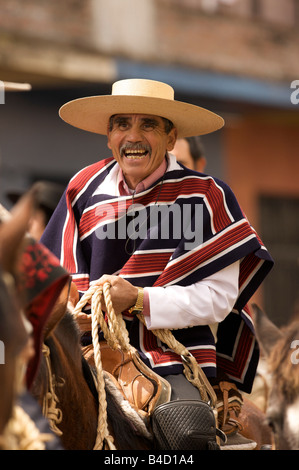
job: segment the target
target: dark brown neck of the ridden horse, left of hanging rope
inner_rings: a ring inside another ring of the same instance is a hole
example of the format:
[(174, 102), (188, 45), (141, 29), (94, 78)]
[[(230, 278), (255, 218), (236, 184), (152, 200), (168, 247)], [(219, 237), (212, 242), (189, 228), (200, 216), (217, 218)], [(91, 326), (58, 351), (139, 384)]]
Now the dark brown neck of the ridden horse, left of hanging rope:
[(70, 314), (66, 313), (44, 339), (30, 391), (64, 449), (93, 449), (98, 414), (96, 389), (91, 372), (83, 363), (78, 331)]

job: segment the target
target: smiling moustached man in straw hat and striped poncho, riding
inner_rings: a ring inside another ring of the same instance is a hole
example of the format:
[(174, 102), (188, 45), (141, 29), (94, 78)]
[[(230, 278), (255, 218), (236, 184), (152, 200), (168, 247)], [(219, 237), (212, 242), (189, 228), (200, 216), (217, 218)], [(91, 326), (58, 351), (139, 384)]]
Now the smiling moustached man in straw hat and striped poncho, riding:
[[(178, 137), (216, 131), (223, 119), (176, 101), (165, 83), (141, 79), (114, 83), (108, 96), (66, 103), (60, 116), (107, 135), (112, 158), (71, 179), (42, 242), (80, 295), (110, 282), (131, 344), (169, 381), (171, 400), (200, 395), (185, 379), (181, 357), (154, 329), (173, 330), (211, 382), (222, 374), (250, 392), (259, 352), (247, 302), (272, 258), (230, 188), (171, 154)], [(78, 321), (87, 344), (90, 316)], [(232, 448), (252, 443), (235, 440)]]

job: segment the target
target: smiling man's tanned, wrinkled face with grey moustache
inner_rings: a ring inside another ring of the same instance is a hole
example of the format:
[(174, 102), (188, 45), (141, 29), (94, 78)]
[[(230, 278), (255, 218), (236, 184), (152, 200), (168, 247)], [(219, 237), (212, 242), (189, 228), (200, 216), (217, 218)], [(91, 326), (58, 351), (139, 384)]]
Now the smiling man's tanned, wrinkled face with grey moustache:
[(143, 114), (118, 114), (108, 130), (108, 147), (119, 163), (128, 186), (137, 184), (155, 171), (166, 151), (176, 141), (176, 129), (168, 134), (161, 117)]

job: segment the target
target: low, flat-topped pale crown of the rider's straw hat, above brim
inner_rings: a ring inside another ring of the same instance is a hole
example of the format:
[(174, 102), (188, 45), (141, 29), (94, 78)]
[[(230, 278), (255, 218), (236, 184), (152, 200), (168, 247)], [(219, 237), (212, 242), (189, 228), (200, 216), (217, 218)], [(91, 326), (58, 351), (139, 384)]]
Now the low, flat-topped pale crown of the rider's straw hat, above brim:
[(167, 83), (134, 78), (115, 82), (112, 85), (112, 95), (147, 96), (174, 100), (174, 89)]

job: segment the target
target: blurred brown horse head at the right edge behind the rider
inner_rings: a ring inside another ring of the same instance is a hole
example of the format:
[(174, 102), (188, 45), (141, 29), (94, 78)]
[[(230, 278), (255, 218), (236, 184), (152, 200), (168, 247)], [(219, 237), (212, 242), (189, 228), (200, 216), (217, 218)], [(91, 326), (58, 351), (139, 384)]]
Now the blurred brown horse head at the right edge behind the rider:
[(253, 305), (270, 377), (267, 420), (279, 450), (299, 449), (299, 322), (279, 329)]

